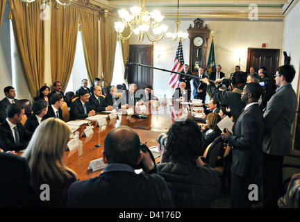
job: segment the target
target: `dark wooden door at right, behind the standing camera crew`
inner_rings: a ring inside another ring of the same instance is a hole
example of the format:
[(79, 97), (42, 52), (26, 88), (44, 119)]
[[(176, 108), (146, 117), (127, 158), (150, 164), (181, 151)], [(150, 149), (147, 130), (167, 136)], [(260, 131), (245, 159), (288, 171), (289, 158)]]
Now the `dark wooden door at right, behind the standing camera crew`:
[(274, 78), (279, 62), (279, 49), (253, 49), (248, 48), (247, 71), (250, 67), (267, 68), (267, 78)]

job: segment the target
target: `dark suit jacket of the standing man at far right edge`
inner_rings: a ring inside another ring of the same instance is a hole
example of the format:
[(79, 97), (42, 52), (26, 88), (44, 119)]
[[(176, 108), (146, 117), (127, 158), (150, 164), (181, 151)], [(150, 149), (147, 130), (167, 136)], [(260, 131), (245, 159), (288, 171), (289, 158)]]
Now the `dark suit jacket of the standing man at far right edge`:
[(263, 152), (288, 155), (292, 148), (292, 123), (297, 111), (297, 95), (291, 84), (283, 86), (267, 102)]

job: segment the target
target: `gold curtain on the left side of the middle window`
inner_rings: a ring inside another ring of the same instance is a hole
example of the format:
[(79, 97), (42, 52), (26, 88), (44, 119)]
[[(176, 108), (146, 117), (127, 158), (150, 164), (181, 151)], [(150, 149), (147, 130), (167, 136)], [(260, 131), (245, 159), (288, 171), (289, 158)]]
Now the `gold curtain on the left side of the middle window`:
[(77, 32), (78, 9), (73, 6), (56, 4), (51, 8), (51, 77), (52, 82), (60, 81), (63, 91), (67, 87), (74, 64)]

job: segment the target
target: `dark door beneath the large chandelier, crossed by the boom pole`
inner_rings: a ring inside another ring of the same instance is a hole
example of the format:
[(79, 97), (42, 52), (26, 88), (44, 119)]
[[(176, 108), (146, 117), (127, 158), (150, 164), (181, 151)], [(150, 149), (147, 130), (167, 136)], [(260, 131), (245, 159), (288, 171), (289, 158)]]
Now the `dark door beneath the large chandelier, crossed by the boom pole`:
[[(153, 45), (129, 45), (129, 62), (137, 62), (143, 65), (153, 66)], [(128, 83), (139, 86), (152, 85), (153, 69), (131, 65), (128, 67)]]

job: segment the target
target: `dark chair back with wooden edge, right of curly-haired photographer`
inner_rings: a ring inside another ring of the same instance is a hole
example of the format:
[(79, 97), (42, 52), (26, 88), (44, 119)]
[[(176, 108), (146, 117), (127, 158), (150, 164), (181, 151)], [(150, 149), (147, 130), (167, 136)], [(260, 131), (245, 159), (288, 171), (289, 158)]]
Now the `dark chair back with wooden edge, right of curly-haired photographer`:
[(206, 157), (210, 167), (215, 167), (221, 148), (223, 148), (223, 139), (222, 137), (217, 137), (211, 144), (208, 145), (206, 151), (204, 151), (203, 157)]

